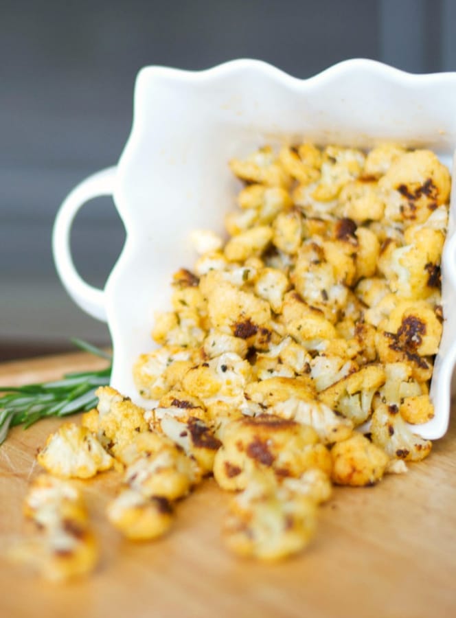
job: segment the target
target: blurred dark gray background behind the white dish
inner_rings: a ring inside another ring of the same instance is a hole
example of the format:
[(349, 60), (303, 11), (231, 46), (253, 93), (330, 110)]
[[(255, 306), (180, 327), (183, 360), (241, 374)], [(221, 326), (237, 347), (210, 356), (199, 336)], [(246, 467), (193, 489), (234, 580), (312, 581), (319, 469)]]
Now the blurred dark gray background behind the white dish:
[[(67, 297), (52, 224), (69, 190), (117, 162), (144, 65), (233, 58), (305, 78), (352, 57), (456, 70), (453, 0), (0, 0), (0, 360), (109, 343)], [(102, 286), (124, 240), (107, 198), (73, 228), (80, 273)]]

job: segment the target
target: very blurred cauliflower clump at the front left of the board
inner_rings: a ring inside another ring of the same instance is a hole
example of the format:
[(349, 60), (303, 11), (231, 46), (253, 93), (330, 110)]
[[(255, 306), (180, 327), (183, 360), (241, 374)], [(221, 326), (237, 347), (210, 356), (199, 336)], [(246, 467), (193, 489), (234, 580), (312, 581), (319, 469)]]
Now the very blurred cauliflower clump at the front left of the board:
[(87, 519), (81, 492), (47, 474), (32, 484), (24, 505), (41, 535), (15, 545), (10, 558), (33, 567), (45, 579), (65, 582), (87, 575), (98, 563), (98, 545)]

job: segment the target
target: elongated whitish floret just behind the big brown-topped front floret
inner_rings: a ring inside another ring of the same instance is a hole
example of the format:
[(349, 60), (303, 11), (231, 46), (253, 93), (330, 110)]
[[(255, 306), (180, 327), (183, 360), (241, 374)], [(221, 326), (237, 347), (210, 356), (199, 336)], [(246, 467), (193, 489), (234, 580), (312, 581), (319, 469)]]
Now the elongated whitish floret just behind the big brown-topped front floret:
[(275, 402), (269, 411), (281, 418), (312, 427), (323, 444), (341, 442), (347, 439), (353, 429), (350, 419), (338, 416), (328, 406), (313, 398), (290, 396), (284, 401)]

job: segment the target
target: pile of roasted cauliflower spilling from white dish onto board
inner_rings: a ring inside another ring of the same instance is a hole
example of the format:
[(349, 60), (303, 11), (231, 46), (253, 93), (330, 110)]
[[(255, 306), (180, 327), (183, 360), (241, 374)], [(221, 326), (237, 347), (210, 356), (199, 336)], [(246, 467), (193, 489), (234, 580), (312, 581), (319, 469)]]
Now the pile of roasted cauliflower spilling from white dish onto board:
[(433, 417), (451, 179), (396, 144), (265, 147), (230, 166), (229, 240), (192, 234), (198, 260), (133, 368), (150, 409), (102, 387), (38, 462), (65, 479), (121, 470), (107, 517), (135, 540), (166, 533), (213, 474), (233, 492), (227, 546), (271, 560), (308, 544), (332, 484), (429, 455), (413, 425)]

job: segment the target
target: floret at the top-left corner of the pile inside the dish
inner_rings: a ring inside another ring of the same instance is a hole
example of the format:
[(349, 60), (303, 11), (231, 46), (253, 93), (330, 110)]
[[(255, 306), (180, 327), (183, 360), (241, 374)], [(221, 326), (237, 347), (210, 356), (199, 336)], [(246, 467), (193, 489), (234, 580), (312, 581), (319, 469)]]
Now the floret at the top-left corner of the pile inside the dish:
[(245, 159), (231, 159), (231, 172), (249, 183), (287, 187), (290, 176), (278, 161), (271, 146), (264, 146)]

